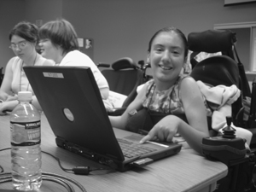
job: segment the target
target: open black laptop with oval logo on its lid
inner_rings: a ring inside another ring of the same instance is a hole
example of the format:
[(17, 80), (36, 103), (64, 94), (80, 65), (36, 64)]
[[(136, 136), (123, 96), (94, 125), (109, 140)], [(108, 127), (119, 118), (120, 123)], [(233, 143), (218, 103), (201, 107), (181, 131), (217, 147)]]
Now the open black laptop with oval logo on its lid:
[[(143, 136), (110, 124), (90, 67), (24, 67), (55, 142), (76, 154), (125, 172), (177, 154), (178, 143), (139, 144)], [(125, 145), (135, 149), (125, 151)], [(146, 153), (146, 154), (145, 154)]]

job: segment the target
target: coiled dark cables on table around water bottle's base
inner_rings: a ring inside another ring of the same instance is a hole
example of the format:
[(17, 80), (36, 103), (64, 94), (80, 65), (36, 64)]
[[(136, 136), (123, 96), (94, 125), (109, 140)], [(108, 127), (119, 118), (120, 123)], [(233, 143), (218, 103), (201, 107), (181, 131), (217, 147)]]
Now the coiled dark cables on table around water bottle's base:
[[(51, 172), (42, 172), (42, 178), (46, 181), (52, 181), (55, 183), (61, 184), (64, 188), (67, 189), (68, 192), (74, 192), (75, 189), (73, 188), (73, 185), (68, 183), (71, 182), (79, 187), (82, 192), (86, 192), (86, 189), (84, 189), (84, 186), (78, 183), (77, 181), (73, 180), (73, 178), (61, 176), (55, 173)], [(12, 181), (12, 174), (11, 172), (3, 172), (0, 173), (0, 183), (7, 183)]]

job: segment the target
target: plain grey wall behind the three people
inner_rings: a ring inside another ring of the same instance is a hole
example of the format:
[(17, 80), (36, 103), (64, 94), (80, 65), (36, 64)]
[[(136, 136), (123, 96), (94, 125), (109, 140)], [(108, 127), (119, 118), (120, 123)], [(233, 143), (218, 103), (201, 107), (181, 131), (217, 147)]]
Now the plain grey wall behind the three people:
[(94, 39), (94, 61), (145, 60), (148, 41), (164, 26), (185, 35), (214, 24), (256, 20), (256, 3), (224, 7), (224, 0), (0, 0), (0, 67), (13, 56), (9, 30), (20, 20), (69, 20), (79, 38)]

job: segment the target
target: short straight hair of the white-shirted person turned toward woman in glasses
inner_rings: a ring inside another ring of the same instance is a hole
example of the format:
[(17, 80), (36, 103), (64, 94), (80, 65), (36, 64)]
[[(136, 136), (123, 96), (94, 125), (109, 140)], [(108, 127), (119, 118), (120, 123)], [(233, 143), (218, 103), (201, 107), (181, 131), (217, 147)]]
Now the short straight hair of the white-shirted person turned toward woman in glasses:
[(40, 39), (49, 39), (55, 47), (63, 49), (63, 55), (79, 49), (78, 36), (70, 22), (64, 19), (52, 20), (39, 29)]

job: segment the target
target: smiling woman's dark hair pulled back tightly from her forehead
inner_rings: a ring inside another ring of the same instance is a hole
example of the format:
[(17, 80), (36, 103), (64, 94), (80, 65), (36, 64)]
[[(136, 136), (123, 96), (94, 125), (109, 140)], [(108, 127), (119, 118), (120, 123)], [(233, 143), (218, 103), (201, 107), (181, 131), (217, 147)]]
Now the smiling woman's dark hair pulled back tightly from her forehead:
[(160, 29), (158, 32), (155, 32), (153, 37), (150, 39), (149, 41), (149, 44), (148, 44), (148, 52), (151, 51), (151, 46), (152, 46), (152, 43), (154, 41), (154, 38), (160, 34), (160, 32), (176, 32), (177, 35), (180, 36), (180, 38), (182, 38), (183, 40), (183, 44), (184, 44), (184, 48), (185, 48), (185, 53), (184, 53), (184, 57), (186, 58), (188, 56), (188, 53), (189, 53), (189, 48), (188, 48), (188, 41), (187, 41), (187, 38), (186, 36), (183, 34), (182, 31), (180, 31), (179, 29), (173, 27), (173, 26), (167, 26), (167, 27), (164, 27), (162, 29)]

